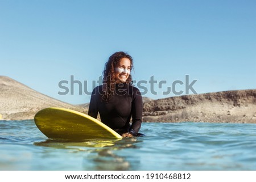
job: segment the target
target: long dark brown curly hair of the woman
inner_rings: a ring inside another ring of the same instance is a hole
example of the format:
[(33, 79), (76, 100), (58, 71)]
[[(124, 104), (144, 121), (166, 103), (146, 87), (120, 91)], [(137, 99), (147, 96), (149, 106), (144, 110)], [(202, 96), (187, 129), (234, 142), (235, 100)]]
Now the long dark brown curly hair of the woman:
[[(131, 69), (133, 69), (133, 58), (125, 53), (125, 52), (116, 52), (112, 54), (112, 56), (109, 57), (108, 62), (105, 64), (105, 69), (103, 71), (103, 86), (102, 86), (102, 91), (103, 95), (101, 97), (102, 100), (109, 102), (109, 100), (112, 98), (114, 95), (114, 90), (115, 90), (115, 66), (119, 63), (119, 61), (122, 58), (128, 58), (131, 62)], [(132, 84), (132, 78), (131, 74), (126, 80), (127, 84)]]

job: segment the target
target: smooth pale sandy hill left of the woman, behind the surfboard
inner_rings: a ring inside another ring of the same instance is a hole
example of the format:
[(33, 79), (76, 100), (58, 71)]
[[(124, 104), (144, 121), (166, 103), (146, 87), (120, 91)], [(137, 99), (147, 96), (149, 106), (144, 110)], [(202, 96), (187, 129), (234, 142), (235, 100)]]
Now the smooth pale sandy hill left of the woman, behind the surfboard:
[(14, 79), (0, 76), (0, 117), (3, 120), (32, 119), (36, 112), (47, 107), (63, 107), (85, 112), (84, 108), (53, 99)]

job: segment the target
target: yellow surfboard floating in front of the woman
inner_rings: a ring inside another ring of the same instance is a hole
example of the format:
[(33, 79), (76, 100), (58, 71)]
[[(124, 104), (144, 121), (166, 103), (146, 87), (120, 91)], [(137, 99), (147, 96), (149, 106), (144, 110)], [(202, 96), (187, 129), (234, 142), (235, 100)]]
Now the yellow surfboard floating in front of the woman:
[(36, 113), (35, 124), (51, 139), (85, 140), (122, 138), (96, 118), (65, 108), (46, 108)]

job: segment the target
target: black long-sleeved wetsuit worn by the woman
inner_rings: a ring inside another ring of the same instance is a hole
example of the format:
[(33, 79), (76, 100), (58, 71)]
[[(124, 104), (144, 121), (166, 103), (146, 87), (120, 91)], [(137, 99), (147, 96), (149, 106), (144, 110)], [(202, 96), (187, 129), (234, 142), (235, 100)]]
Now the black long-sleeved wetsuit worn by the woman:
[(108, 103), (101, 96), (102, 86), (94, 88), (88, 115), (97, 118), (99, 112), (101, 121), (117, 133), (137, 134), (142, 122), (142, 96), (138, 88), (119, 83), (115, 84), (115, 93)]

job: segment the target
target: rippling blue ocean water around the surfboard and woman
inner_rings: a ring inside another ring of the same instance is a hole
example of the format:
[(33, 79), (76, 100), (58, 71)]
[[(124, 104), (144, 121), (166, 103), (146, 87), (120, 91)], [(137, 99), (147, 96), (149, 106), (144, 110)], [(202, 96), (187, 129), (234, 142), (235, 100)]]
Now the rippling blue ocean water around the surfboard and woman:
[(256, 170), (256, 124), (143, 123), (145, 137), (49, 140), (0, 121), (0, 170)]

